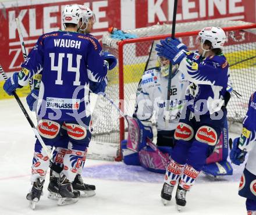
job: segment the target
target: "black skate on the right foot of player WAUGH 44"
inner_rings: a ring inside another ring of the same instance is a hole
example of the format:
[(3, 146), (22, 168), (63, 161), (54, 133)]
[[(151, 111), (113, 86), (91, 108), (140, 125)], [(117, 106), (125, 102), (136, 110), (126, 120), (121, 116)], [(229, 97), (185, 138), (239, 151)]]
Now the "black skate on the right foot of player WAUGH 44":
[(58, 205), (69, 205), (76, 203), (79, 199), (80, 192), (73, 190), (71, 182), (66, 179), (66, 176), (63, 175), (59, 179), (59, 199)]

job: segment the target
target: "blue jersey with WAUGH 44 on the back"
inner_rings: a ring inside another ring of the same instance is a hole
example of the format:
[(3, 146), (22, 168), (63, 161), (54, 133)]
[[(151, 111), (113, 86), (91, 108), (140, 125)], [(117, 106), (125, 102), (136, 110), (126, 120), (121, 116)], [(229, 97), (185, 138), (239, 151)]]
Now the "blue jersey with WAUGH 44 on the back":
[[(101, 82), (108, 72), (102, 48), (92, 35), (55, 31), (42, 35), (22, 64), (19, 84), (41, 73), (40, 116), (73, 120), (87, 110), (89, 81)], [(83, 114), (88, 116), (89, 112)]]

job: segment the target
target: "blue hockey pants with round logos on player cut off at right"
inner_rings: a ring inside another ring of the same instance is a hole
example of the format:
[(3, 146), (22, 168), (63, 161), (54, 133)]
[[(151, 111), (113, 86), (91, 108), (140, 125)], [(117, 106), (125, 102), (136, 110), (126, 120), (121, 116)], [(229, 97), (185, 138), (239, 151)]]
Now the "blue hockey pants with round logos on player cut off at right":
[(256, 200), (256, 175), (244, 168), (239, 185), (239, 195)]

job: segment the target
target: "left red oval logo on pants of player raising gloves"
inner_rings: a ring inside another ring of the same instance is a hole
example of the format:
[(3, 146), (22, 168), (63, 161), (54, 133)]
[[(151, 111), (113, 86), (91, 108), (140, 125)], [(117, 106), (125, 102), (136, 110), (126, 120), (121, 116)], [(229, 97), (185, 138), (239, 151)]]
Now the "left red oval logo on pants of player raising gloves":
[(180, 122), (177, 125), (174, 137), (175, 139), (183, 139), (184, 141), (190, 141), (194, 137), (194, 129), (189, 124)]

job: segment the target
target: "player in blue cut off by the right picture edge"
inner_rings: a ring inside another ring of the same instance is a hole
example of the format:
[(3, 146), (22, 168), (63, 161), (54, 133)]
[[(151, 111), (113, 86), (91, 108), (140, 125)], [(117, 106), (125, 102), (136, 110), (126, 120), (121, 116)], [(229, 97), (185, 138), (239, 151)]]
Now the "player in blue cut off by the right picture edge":
[(256, 215), (256, 92), (251, 95), (243, 120), (241, 136), (233, 140), (230, 160), (240, 165), (248, 153), (246, 167), (239, 184), (239, 195), (246, 198), (248, 215)]

